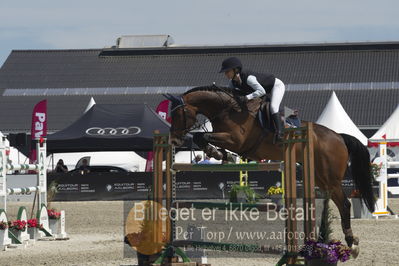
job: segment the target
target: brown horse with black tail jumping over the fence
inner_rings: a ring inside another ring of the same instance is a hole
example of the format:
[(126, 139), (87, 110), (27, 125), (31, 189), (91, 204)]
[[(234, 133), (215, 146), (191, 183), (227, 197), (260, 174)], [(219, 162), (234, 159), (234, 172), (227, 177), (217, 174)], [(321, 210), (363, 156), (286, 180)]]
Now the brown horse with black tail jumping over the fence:
[[(175, 97), (165, 95), (172, 102), (172, 125), (170, 141), (176, 146), (183, 144), (184, 137), (196, 123), (196, 116), (202, 114), (212, 123), (213, 132), (202, 133), (194, 141), (209, 156), (222, 159), (214, 146), (236, 152), (251, 160), (283, 160), (282, 145), (273, 144), (274, 133), (267, 133), (256, 117), (245, 106), (237, 103), (233, 91), (216, 86), (196, 87)], [(318, 124), (313, 124), (315, 158), (315, 183), (328, 192), (341, 216), (342, 230), (348, 246), (358, 244), (350, 223), (351, 204), (344, 194), (342, 179), (347, 168), (351, 171), (355, 186), (370, 212), (374, 211), (375, 197), (372, 190), (373, 176), (370, 168), (370, 154), (356, 138), (337, 134)], [(211, 146), (212, 144), (214, 146)], [(297, 145), (297, 154), (301, 154)], [(298, 157), (298, 161), (302, 159)], [(350, 167), (348, 163), (350, 161)], [(355, 247), (353, 247), (355, 248)]]

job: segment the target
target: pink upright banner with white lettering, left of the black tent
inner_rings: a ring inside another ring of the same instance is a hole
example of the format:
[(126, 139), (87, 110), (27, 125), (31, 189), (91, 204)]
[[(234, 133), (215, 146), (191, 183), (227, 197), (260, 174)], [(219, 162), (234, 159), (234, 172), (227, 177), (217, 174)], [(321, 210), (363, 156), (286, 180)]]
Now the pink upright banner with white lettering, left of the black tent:
[[(45, 138), (47, 136), (47, 100), (35, 105), (32, 112), (32, 140)], [(36, 162), (36, 146), (31, 147), (29, 163)]]

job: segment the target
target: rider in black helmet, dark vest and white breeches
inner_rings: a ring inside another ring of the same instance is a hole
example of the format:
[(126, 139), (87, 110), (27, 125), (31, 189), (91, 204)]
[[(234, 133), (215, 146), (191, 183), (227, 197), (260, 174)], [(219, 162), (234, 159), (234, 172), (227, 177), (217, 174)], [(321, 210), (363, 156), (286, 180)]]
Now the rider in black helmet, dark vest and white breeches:
[(279, 107), (283, 99), (284, 83), (270, 73), (256, 73), (242, 68), (240, 59), (229, 57), (222, 62), (219, 73), (224, 72), (230, 80), (229, 87), (239, 90), (246, 96), (239, 96), (242, 103), (254, 98), (265, 98), (266, 93), (271, 93), (270, 109), (273, 123), (276, 126), (276, 140), (283, 138), (283, 121), (279, 115)]

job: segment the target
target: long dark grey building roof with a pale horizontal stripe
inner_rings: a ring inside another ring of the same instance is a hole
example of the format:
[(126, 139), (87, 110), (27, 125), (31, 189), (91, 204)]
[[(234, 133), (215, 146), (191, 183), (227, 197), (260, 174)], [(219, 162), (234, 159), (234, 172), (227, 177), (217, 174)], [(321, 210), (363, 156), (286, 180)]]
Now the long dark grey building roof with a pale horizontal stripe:
[(28, 130), (32, 108), (43, 98), (49, 129), (60, 130), (92, 95), (97, 103), (155, 107), (160, 92), (224, 85), (217, 70), (228, 56), (283, 80), (283, 104), (307, 120), (318, 118), (332, 90), (358, 126), (378, 127), (398, 104), (399, 42), (17, 50), (0, 69), (0, 112), (13, 116), (0, 116), (0, 130)]

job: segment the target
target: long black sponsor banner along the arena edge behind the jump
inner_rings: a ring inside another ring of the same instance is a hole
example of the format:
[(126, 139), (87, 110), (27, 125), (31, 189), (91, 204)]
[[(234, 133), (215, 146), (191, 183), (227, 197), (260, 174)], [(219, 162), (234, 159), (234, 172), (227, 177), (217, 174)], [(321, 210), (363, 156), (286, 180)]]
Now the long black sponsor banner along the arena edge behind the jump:
[[(151, 197), (150, 172), (49, 174), (48, 179), (48, 184), (54, 180), (58, 184), (55, 201), (146, 200)], [(239, 183), (239, 173), (179, 172), (176, 181), (177, 199), (228, 199), (231, 187)], [(278, 182), (281, 183), (279, 172), (249, 174), (249, 185), (262, 197)], [(345, 181), (345, 192), (349, 195), (352, 189), (353, 184)], [(298, 197), (301, 193), (302, 183), (298, 179)], [(316, 195), (322, 197), (320, 193)]]

